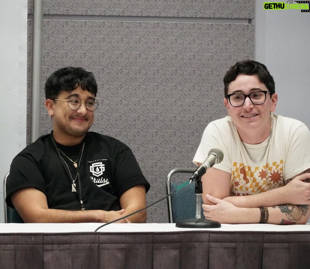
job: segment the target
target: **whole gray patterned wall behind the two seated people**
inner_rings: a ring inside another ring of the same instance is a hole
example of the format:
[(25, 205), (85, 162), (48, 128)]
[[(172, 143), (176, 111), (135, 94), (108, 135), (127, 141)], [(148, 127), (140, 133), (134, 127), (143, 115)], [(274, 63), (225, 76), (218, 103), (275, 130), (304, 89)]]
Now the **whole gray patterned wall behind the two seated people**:
[[(242, 2), (242, 3), (241, 3)], [(28, 3), (30, 118), (32, 1)], [(223, 76), (254, 58), (254, 1), (44, 1), (42, 89), (64, 66), (95, 74), (100, 108), (91, 128), (127, 144), (151, 184), (148, 204), (165, 195), (165, 178), (191, 167), (205, 126), (226, 115)], [(42, 134), (51, 131), (43, 106)], [(30, 122), (27, 123), (29, 142)], [(167, 222), (166, 201), (148, 222)]]

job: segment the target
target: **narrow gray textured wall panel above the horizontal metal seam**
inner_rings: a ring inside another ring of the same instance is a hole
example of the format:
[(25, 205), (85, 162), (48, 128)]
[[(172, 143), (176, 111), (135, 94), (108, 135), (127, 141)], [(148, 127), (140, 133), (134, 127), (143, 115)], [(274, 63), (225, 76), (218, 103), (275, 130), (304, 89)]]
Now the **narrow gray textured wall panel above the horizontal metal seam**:
[[(44, 14), (254, 18), (254, 0), (46, 0)], [(33, 1), (28, 0), (33, 12)]]

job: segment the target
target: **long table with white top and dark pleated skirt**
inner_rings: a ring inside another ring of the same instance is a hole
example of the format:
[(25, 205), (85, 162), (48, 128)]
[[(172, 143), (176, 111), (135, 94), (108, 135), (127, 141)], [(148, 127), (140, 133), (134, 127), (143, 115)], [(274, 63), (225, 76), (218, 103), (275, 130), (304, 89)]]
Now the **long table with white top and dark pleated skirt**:
[(310, 268), (310, 225), (0, 224), (0, 268)]

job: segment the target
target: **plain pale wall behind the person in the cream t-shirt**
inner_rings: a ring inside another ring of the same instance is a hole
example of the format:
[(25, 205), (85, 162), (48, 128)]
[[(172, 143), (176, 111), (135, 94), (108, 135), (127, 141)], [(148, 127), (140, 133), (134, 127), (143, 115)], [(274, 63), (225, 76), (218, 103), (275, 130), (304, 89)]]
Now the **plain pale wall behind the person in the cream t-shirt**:
[(256, 1), (255, 60), (264, 63), (275, 80), (276, 114), (310, 128), (310, 12), (264, 10), (263, 1)]

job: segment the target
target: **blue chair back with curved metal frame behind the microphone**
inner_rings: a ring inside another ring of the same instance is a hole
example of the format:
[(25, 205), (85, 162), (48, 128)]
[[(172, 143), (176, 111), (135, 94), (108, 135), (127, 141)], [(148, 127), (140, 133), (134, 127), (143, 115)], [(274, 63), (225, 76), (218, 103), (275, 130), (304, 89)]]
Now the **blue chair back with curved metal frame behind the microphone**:
[[(172, 193), (180, 185), (184, 184), (189, 177), (196, 171), (194, 168), (179, 167), (171, 170), (166, 177), (166, 194)], [(172, 182), (171, 178), (177, 173), (187, 173), (188, 177), (182, 175), (175, 176)], [(177, 178), (177, 180), (175, 180)], [(195, 183), (187, 184), (181, 189), (177, 190), (167, 198), (168, 218), (170, 223), (176, 223), (181, 220), (192, 219), (196, 217), (197, 198), (195, 194)], [(201, 203), (202, 204), (202, 203)], [(201, 216), (203, 217), (203, 210), (201, 207)]]

